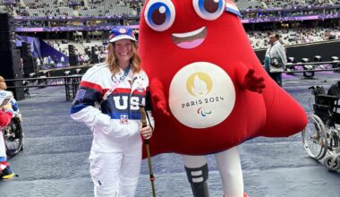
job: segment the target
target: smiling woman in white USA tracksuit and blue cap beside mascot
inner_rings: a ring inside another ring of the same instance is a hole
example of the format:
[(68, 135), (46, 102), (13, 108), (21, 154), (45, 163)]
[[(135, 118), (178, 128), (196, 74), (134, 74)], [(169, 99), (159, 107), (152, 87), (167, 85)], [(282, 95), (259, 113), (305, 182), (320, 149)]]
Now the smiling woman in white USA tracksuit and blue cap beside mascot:
[[(139, 106), (145, 105), (149, 79), (140, 69), (132, 30), (111, 31), (106, 63), (96, 64), (81, 79), (71, 116), (89, 126), (94, 137), (89, 172), (95, 196), (134, 196), (140, 175), (142, 139)], [(147, 110), (148, 110), (147, 106)], [(153, 124), (153, 118), (148, 114)]]

